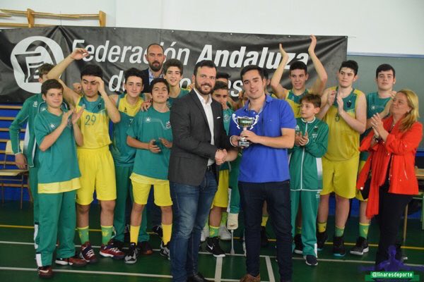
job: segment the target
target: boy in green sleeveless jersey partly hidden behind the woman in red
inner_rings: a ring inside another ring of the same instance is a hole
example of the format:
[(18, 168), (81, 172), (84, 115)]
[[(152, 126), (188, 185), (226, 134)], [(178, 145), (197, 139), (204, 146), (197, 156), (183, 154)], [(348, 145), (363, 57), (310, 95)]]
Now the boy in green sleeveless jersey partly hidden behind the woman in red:
[[(382, 118), (389, 115), (389, 109), (396, 91), (393, 91), (394, 84), (396, 83), (396, 73), (394, 68), (387, 63), (377, 67), (375, 71), (375, 82), (377, 82), (377, 92), (367, 94), (367, 125), (365, 133), (360, 135), (360, 140), (367, 136), (370, 132), (372, 125), (372, 116), (379, 114)], [(369, 153), (360, 152), (359, 155), (359, 170), (363, 168), (365, 161), (367, 161)], [(360, 201), (359, 209), (359, 236), (356, 240), (355, 246), (351, 250), (352, 255), (363, 255), (370, 249), (368, 247), (368, 230), (370, 229), (371, 220), (365, 216), (367, 210), (367, 199), (364, 199), (360, 190), (356, 190), (356, 199)]]

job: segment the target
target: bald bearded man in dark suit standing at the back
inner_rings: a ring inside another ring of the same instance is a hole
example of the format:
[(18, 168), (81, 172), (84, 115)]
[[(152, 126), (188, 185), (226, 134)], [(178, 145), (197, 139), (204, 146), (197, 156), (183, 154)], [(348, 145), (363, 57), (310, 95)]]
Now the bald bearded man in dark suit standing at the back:
[(163, 47), (158, 43), (148, 45), (144, 56), (148, 61), (148, 68), (141, 71), (143, 74), (143, 93), (150, 93), (152, 80), (163, 77), (162, 67), (166, 56), (163, 54)]

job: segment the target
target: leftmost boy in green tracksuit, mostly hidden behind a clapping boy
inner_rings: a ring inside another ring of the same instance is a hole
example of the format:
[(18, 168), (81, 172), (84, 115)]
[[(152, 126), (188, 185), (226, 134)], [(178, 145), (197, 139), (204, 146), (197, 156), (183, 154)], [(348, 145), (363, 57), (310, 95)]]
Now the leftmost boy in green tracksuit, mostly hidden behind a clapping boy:
[[(43, 63), (38, 68), (38, 82), (40, 84), (47, 80), (47, 73), (53, 68), (53, 65), (49, 63)], [(42, 110), (45, 110), (46, 104), (42, 99), (42, 94), (35, 94), (23, 102), (22, 109), (18, 112), (16, 118), (12, 121), (9, 127), (9, 135), (12, 143), (12, 151), (15, 154), (16, 166), (20, 169), (27, 168), (30, 173), (30, 189), (31, 195), (33, 196), (34, 204), (34, 247), (37, 250), (39, 238), (38, 234), (38, 192), (37, 192), (37, 173), (40, 163), (38, 161), (38, 148), (35, 145), (35, 134), (34, 134), (34, 119), (35, 116)], [(23, 126), (26, 126), (25, 131), (25, 145), (23, 146), (23, 152), (19, 147), (19, 130)]]

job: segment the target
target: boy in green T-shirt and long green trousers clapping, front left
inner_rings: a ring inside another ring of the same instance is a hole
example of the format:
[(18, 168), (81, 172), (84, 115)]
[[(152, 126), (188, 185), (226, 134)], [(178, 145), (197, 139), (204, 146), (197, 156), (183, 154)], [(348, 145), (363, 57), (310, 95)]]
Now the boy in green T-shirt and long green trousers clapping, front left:
[[(76, 124), (83, 114), (63, 111), (63, 87), (57, 80), (42, 84), (42, 98), (47, 111), (37, 114), (34, 121), (35, 140), (40, 149), (38, 195), (40, 201), (40, 244), (37, 248), (38, 275), (53, 276), (52, 257), (59, 240), (56, 264), (84, 266), (75, 255), (73, 237), (76, 226), (75, 197), (81, 188), (81, 173), (76, 158), (76, 144), (83, 145), (83, 135)], [(75, 144), (76, 143), (76, 144)]]

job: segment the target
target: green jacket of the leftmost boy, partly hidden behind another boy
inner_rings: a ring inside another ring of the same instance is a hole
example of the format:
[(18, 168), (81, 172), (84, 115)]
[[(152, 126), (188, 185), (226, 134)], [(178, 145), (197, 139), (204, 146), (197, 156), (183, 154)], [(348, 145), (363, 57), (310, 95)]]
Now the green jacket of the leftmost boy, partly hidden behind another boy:
[(23, 103), (22, 109), (20, 109), (18, 115), (9, 127), (12, 150), (14, 154), (18, 154), (22, 153), (19, 147), (19, 130), (26, 125), (23, 154), (25, 154), (25, 157), (28, 161), (28, 166), (30, 167), (34, 166), (34, 154), (37, 147), (35, 146), (34, 119), (35, 116), (40, 112), (40, 106), (42, 106), (43, 109), (46, 107), (41, 94), (35, 94), (26, 99)]

